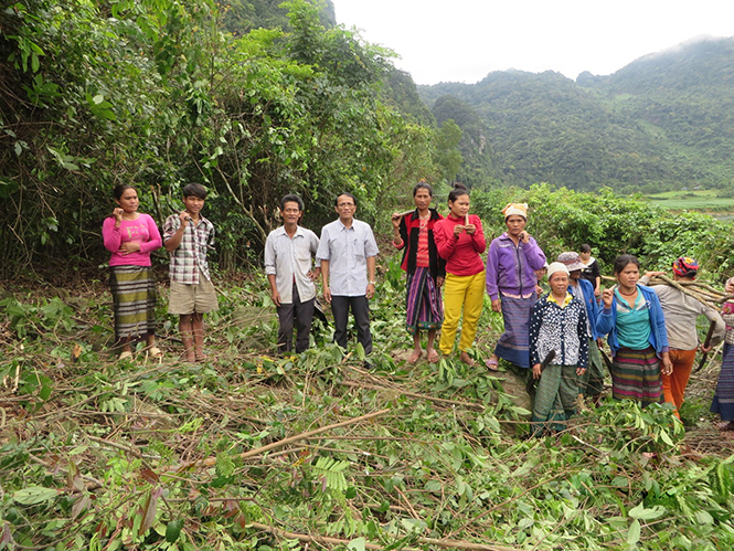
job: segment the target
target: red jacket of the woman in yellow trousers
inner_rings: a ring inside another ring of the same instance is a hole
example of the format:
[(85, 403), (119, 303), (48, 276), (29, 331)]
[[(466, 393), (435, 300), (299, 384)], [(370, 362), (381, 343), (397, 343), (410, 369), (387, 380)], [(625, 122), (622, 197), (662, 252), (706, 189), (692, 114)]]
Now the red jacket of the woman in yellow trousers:
[(446, 259), (446, 272), (457, 276), (477, 275), (485, 271), (485, 263), (479, 256), (487, 248), (481, 220), (476, 214), (469, 214), (469, 223), (477, 226), (474, 235), (461, 232), (454, 236), (454, 226), (464, 225), (464, 219), (449, 214), (434, 226), (434, 240), (438, 255)]

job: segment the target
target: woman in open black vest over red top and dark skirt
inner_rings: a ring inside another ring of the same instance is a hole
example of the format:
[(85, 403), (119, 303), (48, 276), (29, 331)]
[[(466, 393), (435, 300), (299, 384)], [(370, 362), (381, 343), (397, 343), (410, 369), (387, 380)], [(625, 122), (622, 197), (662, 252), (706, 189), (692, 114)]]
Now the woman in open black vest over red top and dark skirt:
[(444, 216), (430, 209), (433, 197), (433, 188), (421, 180), (413, 188), (415, 211), (392, 216), (393, 245), (403, 250), (401, 267), (407, 272), (405, 314), (407, 332), (413, 336), (413, 353), (407, 362), (412, 364), (423, 354), (421, 329), (428, 332), (428, 361), (436, 363), (439, 359), (434, 350), (434, 340), (444, 321), (440, 287), (446, 276), (446, 261), (438, 255), (434, 239), (436, 223)]

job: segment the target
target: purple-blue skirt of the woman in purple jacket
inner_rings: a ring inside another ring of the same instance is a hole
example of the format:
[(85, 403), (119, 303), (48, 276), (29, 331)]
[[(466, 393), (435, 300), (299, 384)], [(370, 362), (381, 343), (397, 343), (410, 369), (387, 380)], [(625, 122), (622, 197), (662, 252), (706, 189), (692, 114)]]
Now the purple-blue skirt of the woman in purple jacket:
[(538, 301), (534, 293), (528, 298), (500, 295), (504, 332), (497, 342), (494, 353), (521, 368), (530, 368), (530, 312)]

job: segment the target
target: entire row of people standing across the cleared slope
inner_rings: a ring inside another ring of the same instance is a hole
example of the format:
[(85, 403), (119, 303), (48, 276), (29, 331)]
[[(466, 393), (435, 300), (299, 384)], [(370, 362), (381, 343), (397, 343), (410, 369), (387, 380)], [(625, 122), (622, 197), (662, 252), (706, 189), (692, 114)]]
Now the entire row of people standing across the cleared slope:
[[(642, 404), (664, 400), (674, 404), (676, 414), (695, 351), (701, 349), (696, 317), (705, 315), (712, 322), (712, 340), (705, 351), (725, 335), (727, 343), (734, 345), (734, 329), (727, 330), (712, 308), (678, 288), (643, 285), (658, 273), (640, 279), (640, 264), (631, 255), (616, 258), (617, 284), (604, 290), (588, 245), (582, 246), (581, 254), (565, 252), (549, 264), (525, 230), (524, 203), (510, 203), (502, 210), (507, 231), (491, 241), (485, 263), (481, 255), (487, 242), (481, 220), (469, 214), (467, 188), (455, 184), (446, 218), (430, 208), (433, 195), (428, 183), (418, 182), (413, 189), (415, 209), (392, 216), (393, 245), (403, 251), (402, 268), (407, 274), (406, 328), (413, 337), (407, 361), (417, 363), (424, 353), (422, 330), (427, 332), (425, 351), (430, 363), (440, 360), (439, 351), (451, 354), (460, 325), (459, 359), (477, 367), (470, 352), (487, 293), (492, 310), (502, 314), (504, 331), (486, 365), (497, 371), (503, 359), (532, 369), (532, 377), (539, 380), (532, 415), (535, 431), (572, 415), (579, 393), (598, 402), (604, 388), (603, 337), (613, 357), (608, 365), (613, 396)], [(164, 245), (171, 254), (169, 311), (180, 316), (184, 358), (203, 360), (203, 314), (216, 308), (206, 262), (214, 226), (201, 215), (206, 190), (200, 184), (183, 189), (185, 210), (168, 218), (163, 237), (150, 216), (137, 212), (132, 187), (116, 188), (115, 197), (117, 208), (105, 220), (103, 236), (111, 252), (110, 287), (120, 358), (130, 357), (131, 343), (139, 339), (147, 341), (148, 353), (162, 354), (155, 343), (150, 253)], [(334, 202), (338, 219), (323, 226), (319, 239), (299, 224), (305, 209), (300, 197), (288, 194), (280, 201), (283, 226), (270, 232), (265, 244), (280, 352), (308, 348), (315, 282), (320, 277), (333, 312), (334, 342), (347, 348), (351, 310), (358, 341), (365, 354), (371, 353), (369, 300), (375, 293), (379, 251), (370, 225), (354, 218), (357, 206), (354, 195), (339, 194)], [(673, 264), (676, 278), (692, 279), (696, 271), (692, 258), (681, 257)], [(544, 275), (550, 287), (546, 294), (540, 285)], [(724, 305), (730, 326), (734, 326), (732, 304)], [(712, 411), (721, 413), (725, 430), (734, 431), (734, 351), (730, 350), (734, 347), (726, 348)]]

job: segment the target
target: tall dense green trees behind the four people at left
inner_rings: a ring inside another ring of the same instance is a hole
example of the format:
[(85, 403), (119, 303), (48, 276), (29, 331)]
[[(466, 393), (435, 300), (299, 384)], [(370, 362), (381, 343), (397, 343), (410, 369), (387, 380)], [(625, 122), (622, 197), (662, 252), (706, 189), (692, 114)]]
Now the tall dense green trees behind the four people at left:
[(432, 117), (415, 85), (391, 51), (329, 24), (325, 7), (281, 2), (280, 27), (236, 35), (227, 28), (244, 12), (211, 0), (7, 7), (3, 271), (99, 261), (118, 183), (138, 187), (141, 211), (159, 223), (180, 208), (181, 184), (208, 186), (226, 237), (220, 265), (233, 268), (255, 259), (285, 193), (300, 193), (318, 226), (342, 190), (370, 221), (406, 186), (438, 178), (435, 131), (418, 121)]

